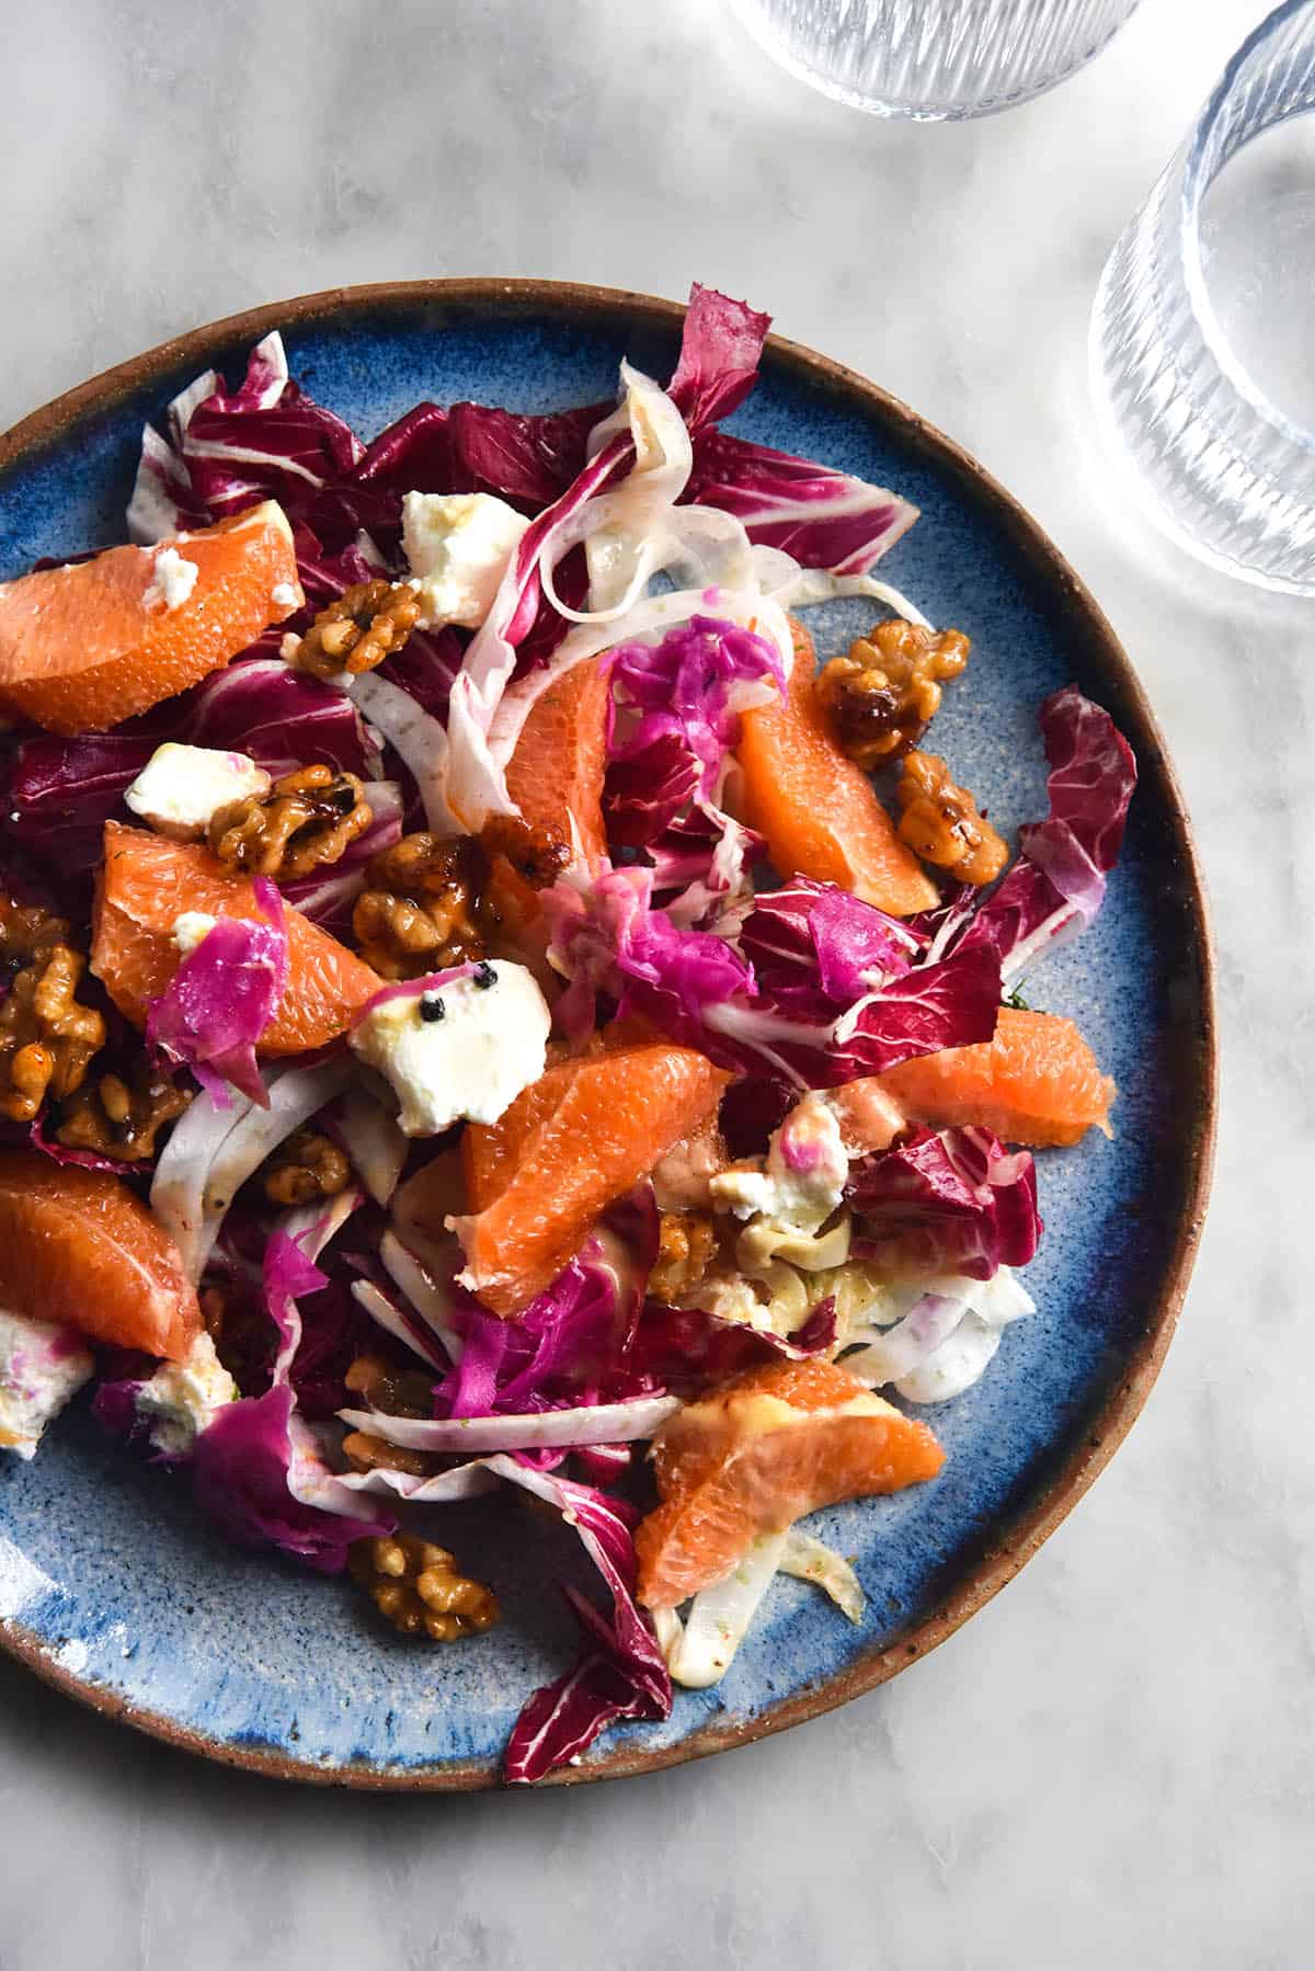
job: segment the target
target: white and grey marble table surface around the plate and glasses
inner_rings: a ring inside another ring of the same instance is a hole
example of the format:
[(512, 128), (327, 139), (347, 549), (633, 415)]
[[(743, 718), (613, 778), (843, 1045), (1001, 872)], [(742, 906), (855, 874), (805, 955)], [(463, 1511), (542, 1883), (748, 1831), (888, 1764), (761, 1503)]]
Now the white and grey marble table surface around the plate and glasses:
[(931, 1660), (731, 1758), (477, 1800), (282, 1790), (0, 1664), (2, 1971), (1315, 1961), (1315, 613), (1147, 538), (1084, 392), (1110, 242), (1260, 12), (1145, 0), (1057, 95), (915, 128), (777, 75), (714, 0), (6, 10), (0, 426), (341, 282), (773, 306), (976, 451), (1112, 615), (1201, 832), (1226, 1053), (1149, 1409)]

